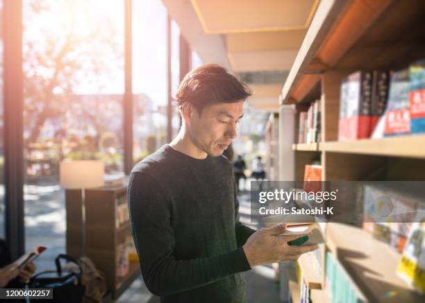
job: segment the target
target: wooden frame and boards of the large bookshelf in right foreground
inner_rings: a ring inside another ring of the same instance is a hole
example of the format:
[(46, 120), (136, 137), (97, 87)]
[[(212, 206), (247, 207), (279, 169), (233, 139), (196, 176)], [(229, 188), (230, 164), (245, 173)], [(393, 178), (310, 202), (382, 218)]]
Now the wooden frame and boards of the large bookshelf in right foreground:
[[(324, 181), (425, 180), (425, 135), (338, 141), (341, 80), (353, 71), (397, 70), (424, 58), (424, 19), (424, 1), (319, 3), (279, 96), (281, 105), (297, 108), (295, 138), (299, 112), (321, 100), (321, 141), (292, 142), (294, 180), (303, 180), (305, 165), (317, 159)], [(397, 277), (399, 253), (358, 227), (335, 224), (326, 229), (326, 250), (342, 263), (369, 302), (424, 301)], [(312, 301), (331, 302), (324, 277), (315, 277), (308, 264), (308, 257), (299, 258), (303, 276), (312, 282)], [(315, 286), (317, 281), (320, 287)], [(290, 279), (290, 291), (299, 302), (295, 282)]]

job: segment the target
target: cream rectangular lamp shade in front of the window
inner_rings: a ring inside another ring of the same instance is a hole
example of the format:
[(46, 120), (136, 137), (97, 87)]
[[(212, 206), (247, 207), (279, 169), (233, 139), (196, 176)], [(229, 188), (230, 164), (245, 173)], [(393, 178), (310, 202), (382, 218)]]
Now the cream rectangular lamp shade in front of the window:
[(60, 186), (64, 189), (90, 189), (104, 184), (105, 165), (97, 160), (60, 162)]

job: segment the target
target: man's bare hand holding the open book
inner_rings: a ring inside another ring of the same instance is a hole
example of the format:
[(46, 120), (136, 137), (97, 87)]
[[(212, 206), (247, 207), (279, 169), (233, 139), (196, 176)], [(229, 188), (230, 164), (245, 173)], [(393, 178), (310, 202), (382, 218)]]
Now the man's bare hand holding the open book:
[(285, 229), (286, 225), (281, 223), (273, 227), (262, 228), (251, 234), (247, 243), (243, 246), (251, 268), (265, 263), (295, 261), (301, 254), (317, 249), (317, 245), (288, 245), (288, 241), (306, 235), (279, 236), (279, 234), (285, 232)]

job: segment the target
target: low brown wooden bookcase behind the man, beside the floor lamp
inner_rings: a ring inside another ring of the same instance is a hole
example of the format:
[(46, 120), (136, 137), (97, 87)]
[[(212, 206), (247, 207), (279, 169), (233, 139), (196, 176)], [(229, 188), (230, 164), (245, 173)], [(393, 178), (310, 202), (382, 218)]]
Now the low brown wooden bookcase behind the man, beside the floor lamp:
[[(108, 291), (116, 300), (140, 276), (140, 265), (128, 262), (128, 272), (119, 275), (119, 247), (131, 236), (129, 220), (117, 223), (119, 205), (126, 204), (127, 187), (108, 186), (85, 190), (86, 255), (105, 273)], [(67, 254), (81, 256), (81, 191), (68, 190)]]

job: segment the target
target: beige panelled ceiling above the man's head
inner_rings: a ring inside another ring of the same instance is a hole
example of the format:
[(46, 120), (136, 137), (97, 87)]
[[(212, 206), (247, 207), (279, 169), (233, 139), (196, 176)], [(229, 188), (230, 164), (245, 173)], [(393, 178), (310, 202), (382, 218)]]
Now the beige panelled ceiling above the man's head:
[[(276, 73), (251, 77), (249, 103), (276, 111), (282, 74), (297, 56), (319, 0), (163, 0), (169, 15), (203, 62), (234, 73)], [(263, 79), (263, 80), (261, 80)], [(276, 80), (278, 79), (278, 80)], [(277, 81), (277, 82), (276, 82)]]

